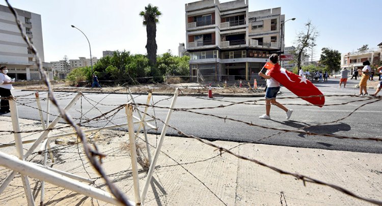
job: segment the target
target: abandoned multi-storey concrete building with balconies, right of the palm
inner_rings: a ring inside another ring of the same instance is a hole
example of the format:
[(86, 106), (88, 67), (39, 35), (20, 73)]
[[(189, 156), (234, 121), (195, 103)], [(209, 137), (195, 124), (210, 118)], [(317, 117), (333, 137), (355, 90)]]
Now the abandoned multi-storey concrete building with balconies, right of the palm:
[(250, 80), (271, 53), (281, 51), (281, 8), (248, 11), (248, 1), (185, 4), (186, 50), (195, 81)]

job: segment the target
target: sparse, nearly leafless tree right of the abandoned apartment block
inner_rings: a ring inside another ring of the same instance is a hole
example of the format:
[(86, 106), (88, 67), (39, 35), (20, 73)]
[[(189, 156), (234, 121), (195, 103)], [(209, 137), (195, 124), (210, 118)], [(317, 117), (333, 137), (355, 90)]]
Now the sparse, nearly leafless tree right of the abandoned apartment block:
[(294, 41), (296, 44), (295, 55), (297, 56), (297, 68), (301, 66), (301, 58), (306, 54), (307, 48), (315, 45), (317, 37), (318, 32), (311, 21), (308, 21), (305, 24), (305, 29), (297, 34), (296, 40)]

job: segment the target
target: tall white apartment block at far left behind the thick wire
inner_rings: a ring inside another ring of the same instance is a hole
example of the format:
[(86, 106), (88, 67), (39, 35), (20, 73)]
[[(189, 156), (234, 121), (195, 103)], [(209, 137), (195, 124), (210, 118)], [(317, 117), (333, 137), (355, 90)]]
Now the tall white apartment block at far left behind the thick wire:
[[(16, 9), (25, 27), (26, 34), (37, 48), (44, 62), (41, 15)], [(16, 80), (40, 80), (35, 58), (21, 37), (15, 17), (8, 7), (0, 5), (0, 66), (7, 66), (8, 75)], [(43, 68), (53, 79), (51, 64), (43, 63)]]

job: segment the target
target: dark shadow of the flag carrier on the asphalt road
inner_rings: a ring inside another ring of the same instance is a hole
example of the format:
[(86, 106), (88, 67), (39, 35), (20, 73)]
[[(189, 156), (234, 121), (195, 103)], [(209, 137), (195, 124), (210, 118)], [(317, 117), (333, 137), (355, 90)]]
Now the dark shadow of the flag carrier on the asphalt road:
[[(279, 122), (272, 120), (274, 122), (280, 123), (282, 125), (286, 125), (289, 127), (293, 127), (296, 129), (303, 128), (302, 130), (306, 132), (312, 132), (312, 133), (317, 133), (317, 134), (334, 134), (337, 132), (346, 132), (350, 131), (351, 127), (348, 124), (345, 123), (338, 123), (338, 124), (332, 124), (332, 125), (310, 125), (307, 123), (303, 122), (297, 122), (297, 121), (285, 121), (285, 122)], [(306, 127), (306, 128), (304, 128)], [(299, 137), (305, 138), (306, 134), (305, 133), (299, 133)], [(324, 146), (332, 146), (332, 144), (324, 143), (324, 142), (317, 142), (319, 144), (322, 144)]]

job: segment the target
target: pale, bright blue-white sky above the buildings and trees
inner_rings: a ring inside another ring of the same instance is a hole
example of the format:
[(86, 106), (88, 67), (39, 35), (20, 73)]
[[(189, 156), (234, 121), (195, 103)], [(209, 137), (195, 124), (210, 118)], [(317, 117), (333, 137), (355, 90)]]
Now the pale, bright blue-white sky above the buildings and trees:
[[(149, 3), (157, 6), (162, 16), (157, 25), (158, 54), (171, 49), (178, 53), (179, 43), (185, 43), (184, 4), (193, 0), (10, 0), (13, 7), (37, 13), (42, 18), (45, 62), (85, 56), (89, 46), (82, 30), (89, 38), (92, 55), (100, 58), (103, 50), (127, 50), (146, 53), (146, 28), (140, 11)], [(222, 2), (228, 2), (222, 0)], [(0, 4), (6, 5), (4, 1)], [(382, 42), (380, 23), (381, 0), (249, 0), (249, 11), (281, 7), (286, 19), (285, 45), (292, 46), (296, 33), (311, 20), (320, 36), (317, 39), (316, 59), (322, 47), (340, 52), (357, 50), (363, 44), (369, 48)]]

